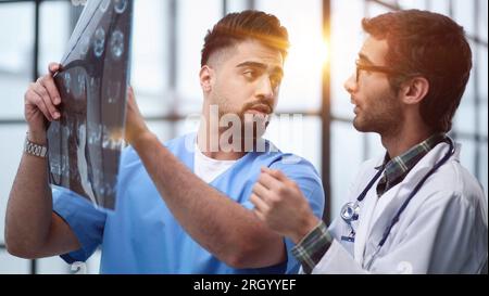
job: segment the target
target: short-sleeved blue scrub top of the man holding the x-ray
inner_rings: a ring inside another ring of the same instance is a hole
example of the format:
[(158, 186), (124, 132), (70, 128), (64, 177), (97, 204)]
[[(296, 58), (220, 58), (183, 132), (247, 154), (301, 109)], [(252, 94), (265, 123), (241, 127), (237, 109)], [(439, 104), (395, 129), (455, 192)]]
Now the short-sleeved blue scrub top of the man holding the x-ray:
[[(190, 133), (165, 145), (193, 171)], [(164, 164), (162, 164), (164, 166)], [(280, 169), (294, 180), (314, 215), (322, 217), (324, 191), (321, 178), (305, 159), (285, 154), (266, 141), (266, 152), (251, 152), (218, 176), (210, 185), (248, 209), (261, 167)], [(82, 248), (61, 257), (68, 263), (86, 261), (101, 246), (101, 273), (296, 273), (299, 262), (286, 239), (287, 261), (260, 269), (235, 269), (200, 246), (173, 217), (141, 159), (133, 147), (122, 153), (114, 211), (96, 208), (84, 197), (53, 188), (53, 210), (72, 228)]]

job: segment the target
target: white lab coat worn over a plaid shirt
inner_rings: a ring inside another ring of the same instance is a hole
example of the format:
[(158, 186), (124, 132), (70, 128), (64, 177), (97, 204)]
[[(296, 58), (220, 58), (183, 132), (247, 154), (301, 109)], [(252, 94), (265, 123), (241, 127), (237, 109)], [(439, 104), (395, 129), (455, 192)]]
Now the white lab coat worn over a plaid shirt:
[[(329, 231), (334, 242), (312, 273), (477, 273), (488, 255), (488, 209), (485, 193), (455, 154), (426, 180), (411, 200), (369, 270), (367, 262), (403, 201), (441, 159), (449, 145), (440, 143), (380, 198), (376, 185), (363, 202), (355, 242), (341, 241), (350, 227), (338, 217)], [(348, 201), (359, 194), (377, 172), (384, 157), (368, 160), (360, 170)], [(377, 181), (378, 182), (378, 181)]]

